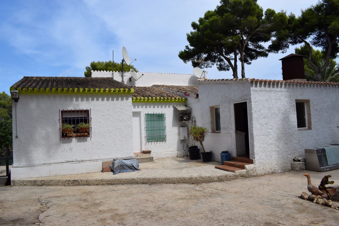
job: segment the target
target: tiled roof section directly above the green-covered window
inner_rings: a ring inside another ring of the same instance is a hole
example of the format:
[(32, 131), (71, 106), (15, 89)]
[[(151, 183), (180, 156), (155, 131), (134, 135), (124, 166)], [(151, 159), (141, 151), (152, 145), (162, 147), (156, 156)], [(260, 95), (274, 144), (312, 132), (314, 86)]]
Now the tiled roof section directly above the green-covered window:
[(157, 87), (151, 86), (151, 87), (143, 87), (143, 86), (132, 86), (134, 89), (133, 97), (147, 97), (147, 98), (153, 98), (153, 97), (163, 97), (163, 98), (181, 98), (180, 96), (176, 94), (169, 93), (165, 90), (159, 89)]

